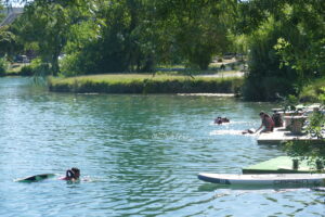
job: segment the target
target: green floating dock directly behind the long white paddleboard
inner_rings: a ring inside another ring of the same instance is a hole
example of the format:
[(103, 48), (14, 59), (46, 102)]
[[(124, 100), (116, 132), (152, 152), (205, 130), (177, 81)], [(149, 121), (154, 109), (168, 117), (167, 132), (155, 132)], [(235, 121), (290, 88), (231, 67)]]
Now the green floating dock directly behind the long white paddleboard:
[[(243, 168), (243, 174), (310, 174), (315, 169), (308, 165), (307, 161), (298, 162), (298, 169), (292, 168), (292, 158), (278, 156), (252, 166)], [(324, 171), (323, 171), (324, 173)]]

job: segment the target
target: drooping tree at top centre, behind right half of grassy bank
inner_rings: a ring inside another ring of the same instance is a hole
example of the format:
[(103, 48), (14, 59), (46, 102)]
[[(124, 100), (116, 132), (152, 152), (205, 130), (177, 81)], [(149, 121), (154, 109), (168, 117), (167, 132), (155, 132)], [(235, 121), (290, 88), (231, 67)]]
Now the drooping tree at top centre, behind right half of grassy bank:
[[(165, 20), (169, 48), (190, 65), (207, 69), (216, 54), (224, 52), (230, 43), (229, 28), (235, 1), (173, 1), (157, 3), (157, 13)], [(167, 43), (168, 44), (168, 43)]]

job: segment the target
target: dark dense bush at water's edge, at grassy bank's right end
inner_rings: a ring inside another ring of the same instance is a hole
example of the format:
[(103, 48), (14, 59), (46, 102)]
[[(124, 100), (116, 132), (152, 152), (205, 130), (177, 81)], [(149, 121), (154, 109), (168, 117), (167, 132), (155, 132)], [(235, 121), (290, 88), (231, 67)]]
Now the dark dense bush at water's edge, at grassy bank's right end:
[(282, 65), (275, 50), (284, 27), (272, 18), (251, 36), (249, 74), (243, 94), (247, 100), (270, 101), (277, 95), (297, 93), (298, 74), (294, 68)]

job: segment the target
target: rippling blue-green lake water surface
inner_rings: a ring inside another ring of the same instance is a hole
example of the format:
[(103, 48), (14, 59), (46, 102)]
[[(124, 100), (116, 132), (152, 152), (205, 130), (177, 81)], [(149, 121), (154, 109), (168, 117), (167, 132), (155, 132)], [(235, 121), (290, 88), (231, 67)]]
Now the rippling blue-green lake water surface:
[[(27, 78), (0, 79), (0, 216), (324, 216), (324, 192), (240, 189), (202, 171), (284, 155), (238, 132), (272, 104), (179, 95), (51, 93)], [(213, 125), (218, 115), (229, 125)], [(72, 166), (87, 180), (13, 179)]]

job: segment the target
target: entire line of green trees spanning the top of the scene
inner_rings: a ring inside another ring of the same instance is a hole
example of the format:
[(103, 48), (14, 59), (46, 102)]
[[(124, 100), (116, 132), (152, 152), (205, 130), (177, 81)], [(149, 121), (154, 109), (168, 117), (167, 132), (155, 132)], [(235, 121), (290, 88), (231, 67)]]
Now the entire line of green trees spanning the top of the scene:
[(0, 29), (0, 55), (35, 53), (34, 67), (52, 75), (152, 72), (158, 64), (206, 69), (217, 55), (242, 53), (249, 67), (244, 97), (275, 100), (325, 72), (324, 0), (25, 3)]

